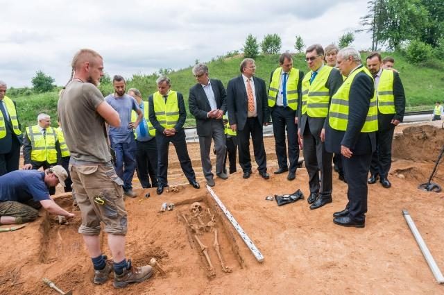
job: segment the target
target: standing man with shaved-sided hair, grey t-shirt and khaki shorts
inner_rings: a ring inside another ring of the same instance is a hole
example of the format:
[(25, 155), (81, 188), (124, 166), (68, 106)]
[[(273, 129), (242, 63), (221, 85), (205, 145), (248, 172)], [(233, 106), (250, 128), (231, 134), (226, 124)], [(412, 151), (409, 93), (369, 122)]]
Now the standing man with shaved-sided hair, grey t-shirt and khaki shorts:
[[(119, 114), (97, 89), (103, 76), (103, 59), (96, 51), (81, 49), (72, 63), (73, 77), (60, 94), (58, 115), (71, 152), (69, 172), (82, 212), (83, 235), (94, 265), (94, 284), (103, 284), (114, 269), (114, 287), (141, 283), (153, 274), (150, 266), (133, 267), (125, 257), (128, 218), (122, 180), (112, 167), (105, 122), (119, 127)], [(112, 261), (101, 251), (101, 222), (108, 233)], [(81, 258), (74, 258), (81, 260)]]

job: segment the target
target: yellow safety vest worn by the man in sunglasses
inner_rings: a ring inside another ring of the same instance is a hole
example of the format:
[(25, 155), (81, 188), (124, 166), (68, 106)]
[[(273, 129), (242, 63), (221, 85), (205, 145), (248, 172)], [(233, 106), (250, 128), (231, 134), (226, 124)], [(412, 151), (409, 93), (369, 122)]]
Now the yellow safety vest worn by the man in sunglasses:
[(310, 117), (325, 118), (328, 114), (330, 94), (325, 87), (332, 67), (324, 65), (310, 85), (311, 73), (309, 71), (302, 80), (302, 115), (307, 113)]

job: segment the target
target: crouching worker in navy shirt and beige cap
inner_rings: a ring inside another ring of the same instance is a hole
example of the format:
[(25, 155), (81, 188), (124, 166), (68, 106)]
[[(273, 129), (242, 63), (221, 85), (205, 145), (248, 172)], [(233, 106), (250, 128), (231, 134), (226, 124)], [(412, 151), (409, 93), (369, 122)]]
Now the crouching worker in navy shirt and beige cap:
[(42, 207), (51, 214), (74, 217), (49, 196), (49, 187), (58, 183), (65, 187), (67, 177), (67, 171), (60, 165), (44, 172), (16, 170), (0, 176), (0, 225), (34, 221)]

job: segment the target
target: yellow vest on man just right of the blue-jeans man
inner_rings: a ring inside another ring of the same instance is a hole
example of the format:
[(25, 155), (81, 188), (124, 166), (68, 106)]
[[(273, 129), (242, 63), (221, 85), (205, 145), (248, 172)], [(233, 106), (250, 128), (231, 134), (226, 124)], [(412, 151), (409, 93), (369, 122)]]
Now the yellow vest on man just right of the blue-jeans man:
[(167, 103), (160, 92), (153, 94), (154, 113), (163, 128), (174, 128), (179, 120), (178, 92), (170, 91)]

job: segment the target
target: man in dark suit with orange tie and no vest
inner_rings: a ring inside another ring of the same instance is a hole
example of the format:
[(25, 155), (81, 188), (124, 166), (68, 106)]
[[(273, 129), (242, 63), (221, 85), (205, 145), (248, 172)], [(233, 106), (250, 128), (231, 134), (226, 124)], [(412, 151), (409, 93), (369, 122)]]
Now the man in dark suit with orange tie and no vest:
[(239, 164), (244, 178), (251, 175), (250, 134), (259, 175), (270, 178), (266, 172), (266, 154), (262, 126), (270, 119), (267, 107), (265, 82), (254, 76), (255, 60), (245, 58), (240, 66), (241, 76), (232, 78), (227, 87), (228, 121), (232, 130), (237, 130), (239, 140)]

